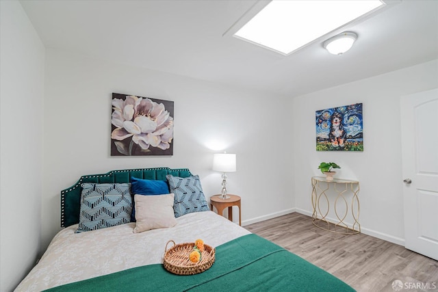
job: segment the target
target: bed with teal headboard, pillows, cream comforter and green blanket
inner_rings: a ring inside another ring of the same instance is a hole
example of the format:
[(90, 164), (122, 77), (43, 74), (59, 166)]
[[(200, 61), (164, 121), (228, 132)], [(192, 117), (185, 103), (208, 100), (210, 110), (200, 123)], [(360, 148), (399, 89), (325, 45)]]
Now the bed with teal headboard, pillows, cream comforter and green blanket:
[[(168, 194), (137, 194), (159, 192), (157, 185), (148, 189), (151, 183), (166, 183)], [(87, 208), (96, 208), (96, 196), (113, 198), (114, 188), (124, 195), (111, 204), (125, 206), (112, 215), (116, 223), (95, 224), (99, 218), (92, 215), (94, 225), (87, 225)], [(185, 201), (189, 195), (193, 202)], [(126, 208), (130, 202), (132, 209)], [(163, 223), (169, 202), (172, 216)], [(185, 168), (81, 176), (61, 191), (61, 213), (64, 228), (15, 291), (354, 291), (319, 267), (209, 211), (198, 176)], [(166, 271), (162, 263), (168, 241), (196, 239), (216, 248), (211, 268), (191, 276)]]

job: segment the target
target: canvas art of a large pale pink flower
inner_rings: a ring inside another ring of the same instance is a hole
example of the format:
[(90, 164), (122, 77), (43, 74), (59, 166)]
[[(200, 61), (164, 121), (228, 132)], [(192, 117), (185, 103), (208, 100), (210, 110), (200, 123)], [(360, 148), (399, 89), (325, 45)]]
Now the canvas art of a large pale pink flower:
[(112, 94), (111, 156), (173, 155), (173, 101)]

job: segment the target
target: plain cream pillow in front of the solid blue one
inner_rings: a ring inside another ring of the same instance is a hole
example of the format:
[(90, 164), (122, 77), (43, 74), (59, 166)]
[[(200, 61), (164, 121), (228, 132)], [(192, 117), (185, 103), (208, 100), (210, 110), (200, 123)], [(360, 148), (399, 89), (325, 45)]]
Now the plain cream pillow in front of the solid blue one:
[(174, 194), (135, 195), (137, 222), (133, 233), (175, 226), (177, 220), (173, 211), (174, 197)]

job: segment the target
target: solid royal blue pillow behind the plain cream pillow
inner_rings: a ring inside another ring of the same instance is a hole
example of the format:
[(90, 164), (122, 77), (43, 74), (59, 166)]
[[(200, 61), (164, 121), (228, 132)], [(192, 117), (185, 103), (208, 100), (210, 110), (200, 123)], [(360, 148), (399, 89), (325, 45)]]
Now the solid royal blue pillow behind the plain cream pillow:
[[(154, 181), (131, 176), (131, 194), (134, 195), (164, 195), (169, 194), (166, 181)], [(132, 200), (131, 222), (136, 222), (136, 203)]]

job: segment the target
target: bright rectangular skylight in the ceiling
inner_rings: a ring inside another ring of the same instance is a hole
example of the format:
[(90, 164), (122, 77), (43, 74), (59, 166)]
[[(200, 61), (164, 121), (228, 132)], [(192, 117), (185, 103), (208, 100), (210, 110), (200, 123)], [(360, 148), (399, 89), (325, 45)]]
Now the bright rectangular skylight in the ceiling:
[(383, 5), (379, 0), (273, 0), (234, 36), (288, 55)]

